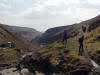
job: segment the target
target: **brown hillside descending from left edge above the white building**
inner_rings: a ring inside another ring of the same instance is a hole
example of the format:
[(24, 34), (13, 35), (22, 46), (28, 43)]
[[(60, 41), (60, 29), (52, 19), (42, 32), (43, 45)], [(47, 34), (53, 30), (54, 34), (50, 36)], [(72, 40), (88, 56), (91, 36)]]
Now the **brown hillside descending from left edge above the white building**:
[(15, 34), (3, 24), (0, 24), (0, 44), (7, 42), (13, 42), (16, 48), (31, 49), (35, 47), (22, 36)]

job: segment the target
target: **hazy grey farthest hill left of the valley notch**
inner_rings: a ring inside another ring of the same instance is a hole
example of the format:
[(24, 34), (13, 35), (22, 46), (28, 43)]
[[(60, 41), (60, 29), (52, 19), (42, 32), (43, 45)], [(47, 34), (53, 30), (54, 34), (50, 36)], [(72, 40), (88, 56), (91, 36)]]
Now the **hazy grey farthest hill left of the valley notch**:
[(26, 38), (27, 40), (31, 41), (35, 37), (41, 35), (41, 33), (33, 28), (27, 28), (27, 27), (19, 27), (19, 26), (9, 26), (5, 25), (8, 29), (12, 30), (18, 35), (21, 35), (22, 37)]

